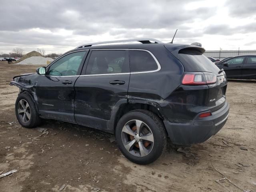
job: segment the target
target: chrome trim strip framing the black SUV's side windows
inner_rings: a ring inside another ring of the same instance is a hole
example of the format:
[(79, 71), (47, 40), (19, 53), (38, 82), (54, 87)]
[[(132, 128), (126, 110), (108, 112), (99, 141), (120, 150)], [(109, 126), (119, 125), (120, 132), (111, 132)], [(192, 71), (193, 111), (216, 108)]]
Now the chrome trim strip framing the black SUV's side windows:
[[(78, 51), (73, 51), (73, 52), (70, 52), (70, 53), (67, 53), (63, 56), (61, 56), (60, 58), (68, 55), (68, 54), (71, 54), (71, 53), (74, 53), (74, 52), (80, 52), (80, 51), (89, 51), (89, 50), (131, 50), (131, 51), (146, 51), (148, 52), (155, 60), (158, 68), (156, 70), (152, 70), (152, 71), (140, 71), (140, 72), (128, 72), (128, 73), (108, 73), (108, 74), (90, 74), (90, 75), (74, 75), (74, 76), (50, 76), (50, 77), (78, 77), (78, 76), (104, 76), (104, 75), (122, 75), (122, 74), (141, 74), (141, 73), (152, 73), (152, 72), (157, 72), (157, 71), (160, 71), (161, 70), (161, 65), (160, 63), (158, 62), (157, 58), (154, 56), (154, 54), (152, 54), (152, 52), (150, 52), (149, 50), (145, 50), (145, 49), (108, 49), (108, 48), (104, 48), (104, 49), (86, 49), (86, 50), (78, 50)], [(58, 60), (60, 59), (58, 58)], [(58, 61), (56, 60), (56, 61)], [(53, 63), (51, 63), (48, 67), (50, 67), (52, 64), (54, 64), (56, 61), (54, 61)], [(47, 68), (48, 68), (47, 67)], [(47, 69), (46, 68), (46, 69)]]

